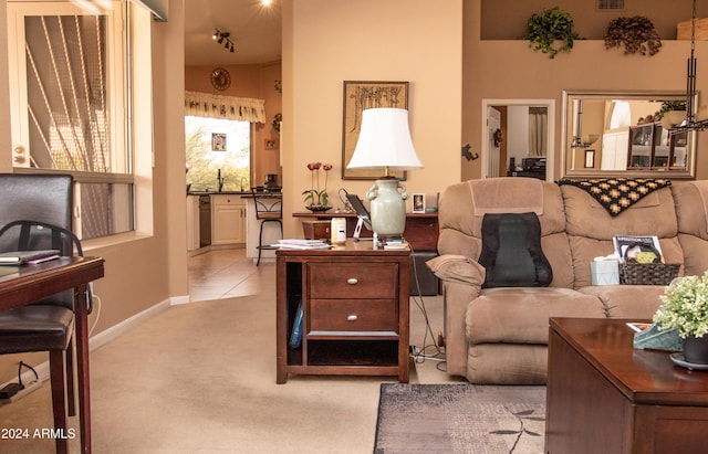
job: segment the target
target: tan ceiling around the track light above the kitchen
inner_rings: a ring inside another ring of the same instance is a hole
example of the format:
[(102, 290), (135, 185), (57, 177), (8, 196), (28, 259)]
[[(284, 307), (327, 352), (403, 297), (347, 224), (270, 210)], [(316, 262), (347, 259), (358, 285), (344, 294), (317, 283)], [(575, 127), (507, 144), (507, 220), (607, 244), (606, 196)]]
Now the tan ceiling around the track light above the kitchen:
[[(235, 51), (211, 36), (229, 32)], [(185, 0), (185, 64), (259, 64), (281, 59), (280, 0)]]

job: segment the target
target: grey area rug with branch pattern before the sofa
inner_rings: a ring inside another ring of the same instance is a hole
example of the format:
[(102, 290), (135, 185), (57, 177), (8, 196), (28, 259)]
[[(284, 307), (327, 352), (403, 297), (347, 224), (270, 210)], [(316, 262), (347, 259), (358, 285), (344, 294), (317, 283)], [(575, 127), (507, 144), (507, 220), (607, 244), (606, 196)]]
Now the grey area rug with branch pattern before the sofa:
[(545, 387), (383, 383), (375, 454), (543, 452)]

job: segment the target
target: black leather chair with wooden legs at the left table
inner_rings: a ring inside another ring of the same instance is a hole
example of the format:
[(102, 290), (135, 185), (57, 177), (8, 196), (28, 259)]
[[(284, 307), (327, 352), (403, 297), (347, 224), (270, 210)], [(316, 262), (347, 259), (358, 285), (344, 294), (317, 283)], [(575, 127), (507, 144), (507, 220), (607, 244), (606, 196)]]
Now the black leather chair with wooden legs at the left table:
[[(71, 176), (0, 175), (0, 251), (56, 249), (61, 255), (71, 256), (75, 247), (76, 254), (83, 255), (79, 239), (71, 232)], [(0, 314), (0, 355), (49, 352), (54, 429), (64, 431), (66, 400), (69, 415), (76, 414), (74, 300), (74, 292), (66, 291)], [(66, 451), (66, 440), (58, 437), (56, 452)]]

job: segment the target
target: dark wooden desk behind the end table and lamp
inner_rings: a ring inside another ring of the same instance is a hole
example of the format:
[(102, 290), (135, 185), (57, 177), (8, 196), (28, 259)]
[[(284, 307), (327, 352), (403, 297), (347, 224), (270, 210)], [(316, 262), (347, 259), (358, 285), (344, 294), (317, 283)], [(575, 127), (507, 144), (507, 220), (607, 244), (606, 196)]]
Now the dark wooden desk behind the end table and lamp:
[[(354, 228), (356, 226), (355, 213), (293, 213), (293, 218), (311, 218), (321, 221), (330, 220), (332, 218), (346, 219), (346, 236), (352, 237), (354, 235)], [(365, 228), (362, 229), (361, 237), (371, 237), (372, 232)], [(406, 239), (414, 251), (437, 251), (438, 250), (438, 213), (406, 213), (406, 230), (403, 232), (403, 236)]]

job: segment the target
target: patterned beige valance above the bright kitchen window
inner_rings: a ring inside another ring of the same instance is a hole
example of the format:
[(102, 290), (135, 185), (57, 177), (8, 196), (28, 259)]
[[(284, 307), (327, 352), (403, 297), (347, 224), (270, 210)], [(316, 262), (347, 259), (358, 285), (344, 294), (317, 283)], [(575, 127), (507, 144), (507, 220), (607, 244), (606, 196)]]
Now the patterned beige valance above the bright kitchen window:
[(185, 92), (185, 115), (266, 123), (266, 101)]

